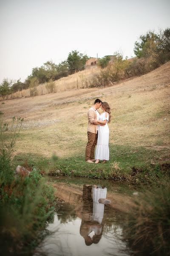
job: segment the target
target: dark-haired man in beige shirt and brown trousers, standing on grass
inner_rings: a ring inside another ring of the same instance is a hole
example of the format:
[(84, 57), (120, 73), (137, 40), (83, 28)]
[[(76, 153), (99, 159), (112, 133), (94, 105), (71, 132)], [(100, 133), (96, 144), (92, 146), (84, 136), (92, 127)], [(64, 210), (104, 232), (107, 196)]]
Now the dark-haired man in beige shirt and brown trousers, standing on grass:
[(94, 120), (99, 120), (98, 109), (102, 105), (100, 99), (96, 99), (94, 105), (88, 111), (88, 143), (85, 149), (85, 161), (88, 163), (93, 163), (94, 161), (94, 148), (97, 144), (97, 125), (98, 122)]

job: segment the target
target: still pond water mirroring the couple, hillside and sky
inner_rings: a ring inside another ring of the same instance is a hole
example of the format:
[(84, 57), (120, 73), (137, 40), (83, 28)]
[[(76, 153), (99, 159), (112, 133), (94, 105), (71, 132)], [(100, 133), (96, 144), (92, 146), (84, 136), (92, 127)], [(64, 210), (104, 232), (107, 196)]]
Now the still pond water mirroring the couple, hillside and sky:
[[(130, 255), (122, 239), (123, 200), (130, 198), (133, 186), (99, 180), (48, 179), (54, 183), (59, 199), (54, 222), (47, 228), (49, 235), (40, 244), (41, 253), (47, 256)], [(107, 198), (111, 204), (101, 204), (99, 198)]]

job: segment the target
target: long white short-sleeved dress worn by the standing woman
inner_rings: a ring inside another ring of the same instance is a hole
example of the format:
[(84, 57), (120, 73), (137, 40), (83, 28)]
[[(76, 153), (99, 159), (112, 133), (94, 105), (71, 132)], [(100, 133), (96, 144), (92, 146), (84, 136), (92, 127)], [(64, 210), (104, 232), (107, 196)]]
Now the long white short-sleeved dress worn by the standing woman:
[(109, 160), (109, 128), (107, 124), (109, 120), (109, 114), (106, 112), (102, 113), (99, 116), (99, 120), (101, 121), (106, 120), (106, 125), (105, 126), (98, 125), (98, 138), (97, 138), (97, 145), (96, 145), (96, 151), (95, 151), (95, 159)]

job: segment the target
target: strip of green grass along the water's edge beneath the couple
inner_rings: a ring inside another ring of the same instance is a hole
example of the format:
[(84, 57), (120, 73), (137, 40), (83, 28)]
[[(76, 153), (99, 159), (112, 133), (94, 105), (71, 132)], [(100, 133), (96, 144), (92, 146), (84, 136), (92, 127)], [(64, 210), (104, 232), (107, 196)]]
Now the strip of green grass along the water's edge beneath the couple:
[(74, 157), (58, 158), (50, 168), (50, 158), (35, 154), (16, 155), (14, 164), (32, 169), (35, 167), (42, 172), (48, 169), (49, 175), (126, 180), (145, 184), (158, 183), (164, 175), (169, 175), (170, 163), (160, 160), (160, 155), (167, 154), (167, 149), (160, 152), (144, 147), (111, 144), (110, 152), (110, 160), (105, 164), (86, 163), (83, 151)]

